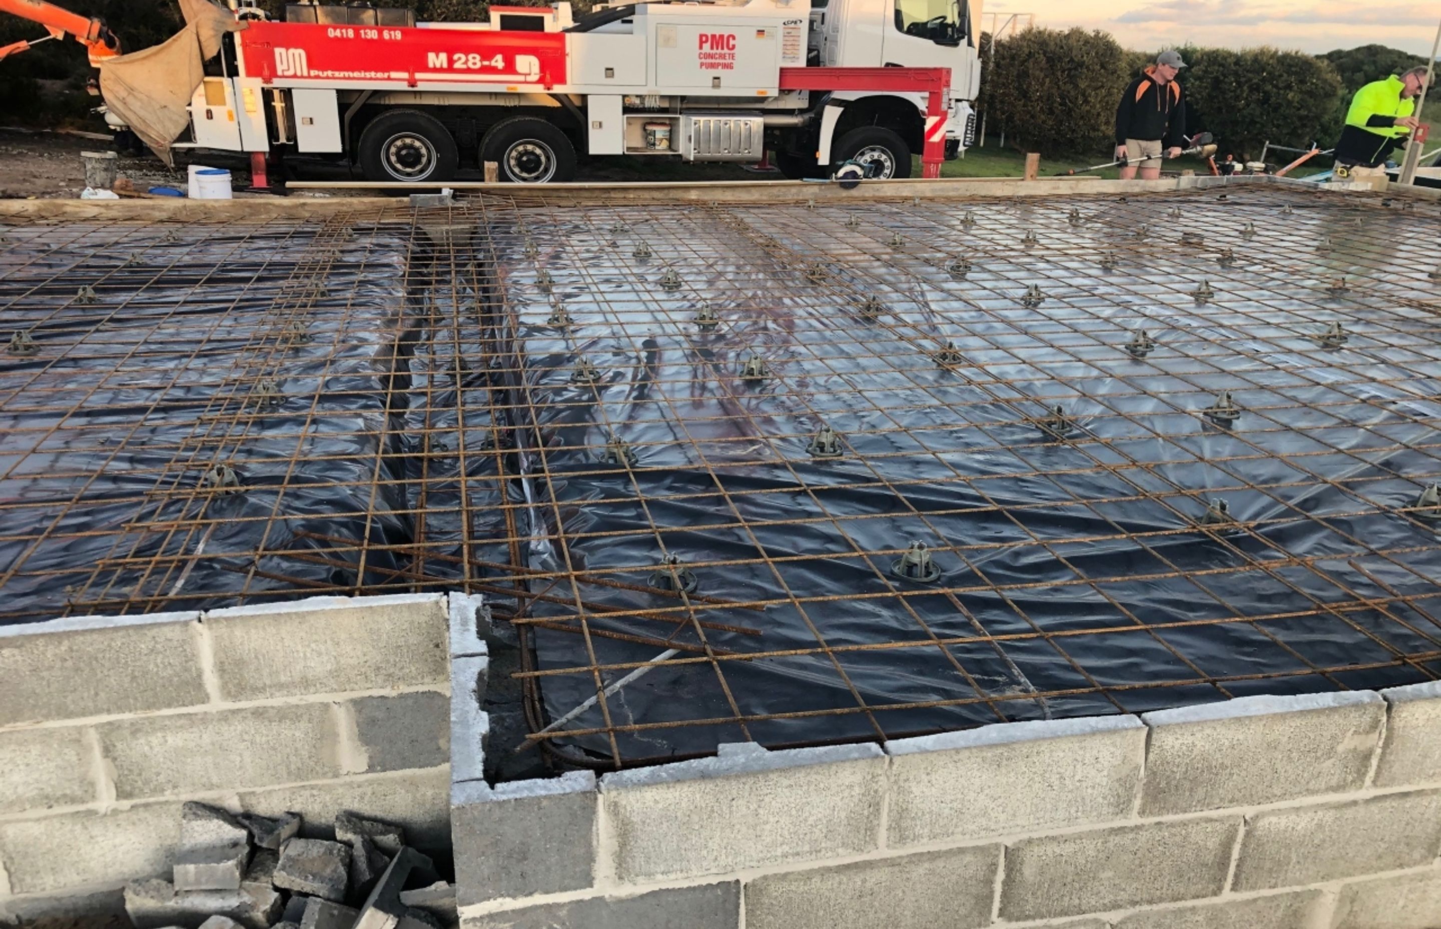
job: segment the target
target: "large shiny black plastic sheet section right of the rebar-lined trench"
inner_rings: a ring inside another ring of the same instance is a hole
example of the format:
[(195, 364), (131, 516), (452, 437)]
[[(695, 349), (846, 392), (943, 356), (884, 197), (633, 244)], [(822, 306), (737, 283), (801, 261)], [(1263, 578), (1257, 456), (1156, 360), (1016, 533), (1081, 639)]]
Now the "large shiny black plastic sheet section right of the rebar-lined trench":
[[(1395, 276), (1435, 219), (1370, 201), (1319, 257), (1355, 211), (1291, 199), (519, 211), (523, 462), (563, 542), (530, 567), (582, 574), (533, 607), (566, 629), (536, 633), (559, 740), (635, 760), (1434, 678), (1408, 508), (1441, 476), (1438, 293)], [(934, 583), (896, 570), (915, 542)], [(586, 583), (666, 555), (683, 603)], [(670, 649), (595, 701), (592, 668)]]

